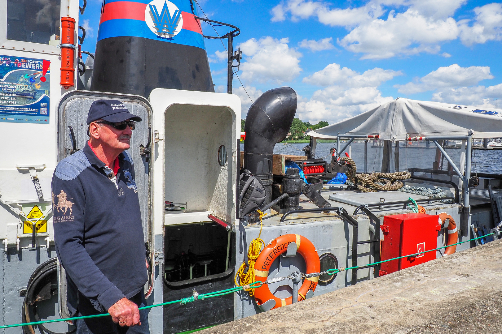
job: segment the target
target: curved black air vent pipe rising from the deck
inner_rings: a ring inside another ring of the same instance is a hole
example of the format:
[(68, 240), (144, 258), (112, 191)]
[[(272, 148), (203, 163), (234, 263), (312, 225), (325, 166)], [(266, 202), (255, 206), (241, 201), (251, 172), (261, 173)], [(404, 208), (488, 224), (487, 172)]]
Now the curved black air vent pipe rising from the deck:
[(244, 125), (244, 168), (262, 179), (272, 200), (274, 146), (284, 140), (295, 118), (297, 97), (290, 87), (271, 89), (249, 108)]

